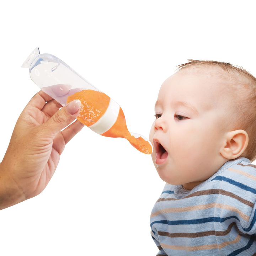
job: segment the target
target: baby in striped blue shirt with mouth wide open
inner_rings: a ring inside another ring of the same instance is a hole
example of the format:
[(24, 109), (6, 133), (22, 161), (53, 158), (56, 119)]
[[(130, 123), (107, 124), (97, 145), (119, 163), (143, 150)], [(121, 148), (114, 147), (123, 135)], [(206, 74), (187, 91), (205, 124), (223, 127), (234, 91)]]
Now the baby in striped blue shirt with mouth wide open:
[(151, 213), (157, 255), (256, 255), (256, 79), (213, 61), (161, 86), (150, 131), (164, 190)]

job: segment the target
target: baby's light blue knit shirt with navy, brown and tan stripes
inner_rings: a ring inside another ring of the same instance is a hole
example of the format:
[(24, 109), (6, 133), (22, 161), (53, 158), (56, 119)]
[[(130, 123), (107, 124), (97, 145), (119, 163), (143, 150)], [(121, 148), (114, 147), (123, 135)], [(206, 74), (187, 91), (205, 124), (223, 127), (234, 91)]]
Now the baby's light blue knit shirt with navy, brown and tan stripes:
[(226, 162), (185, 190), (166, 184), (150, 216), (159, 255), (256, 256), (256, 166)]

